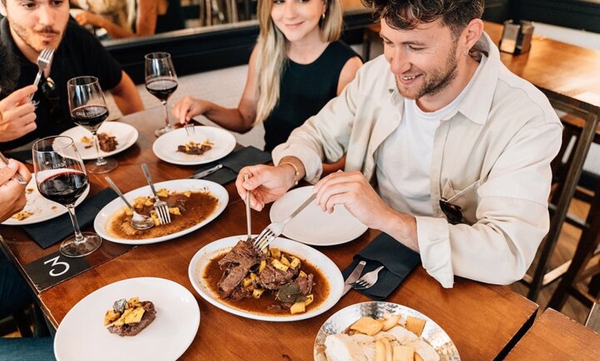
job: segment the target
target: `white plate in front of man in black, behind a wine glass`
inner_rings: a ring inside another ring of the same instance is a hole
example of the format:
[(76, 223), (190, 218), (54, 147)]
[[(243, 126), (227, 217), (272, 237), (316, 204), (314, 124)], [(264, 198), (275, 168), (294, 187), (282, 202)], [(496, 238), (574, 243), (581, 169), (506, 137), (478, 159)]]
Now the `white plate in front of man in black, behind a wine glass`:
[[(124, 150), (126, 150), (129, 147), (131, 147), (132, 145), (134, 145), (135, 142), (137, 142), (137, 138), (139, 137), (139, 132), (133, 125), (130, 125), (128, 123), (123, 123), (121, 121), (105, 121), (99, 127), (98, 132), (101, 133), (101, 132), (106, 132), (106, 131), (111, 132), (113, 136), (117, 137), (117, 141), (119, 142), (119, 145), (117, 145), (117, 148), (111, 152), (104, 152), (103, 150), (101, 150), (100, 154), (103, 157), (114, 156), (114, 154), (119, 154), (119, 153), (123, 152)], [(97, 158), (95, 149), (90, 154), (87, 154), (88, 153), (87, 151), (85, 153), (82, 153), (81, 147), (80, 147), (80, 145), (82, 144), (81, 137), (88, 136), (88, 134), (90, 136), (92, 135), (92, 133), (90, 133), (90, 131), (87, 130), (86, 128), (76, 125), (70, 129), (62, 132), (60, 135), (61, 136), (69, 136), (70, 138), (73, 139), (75, 145), (77, 146), (77, 150), (79, 150), (81, 159), (83, 159), (83, 161), (92, 161)], [(119, 139), (119, 134), (123, 134), (123, 137), (121, 137), (120, 139)], [(123, 141), (123, 138), (126, 138), (125, 143), (121, 143), (121, 141)], [(92, 148), (90, 148), (90, 149), (92, 149)]]

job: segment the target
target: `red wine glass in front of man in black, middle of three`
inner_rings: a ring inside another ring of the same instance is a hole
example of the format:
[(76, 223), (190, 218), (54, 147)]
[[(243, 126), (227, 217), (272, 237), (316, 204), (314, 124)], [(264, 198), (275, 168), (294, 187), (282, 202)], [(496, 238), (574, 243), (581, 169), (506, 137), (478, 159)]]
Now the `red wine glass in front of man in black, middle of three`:
[(105, 159), (100, 153), (98, 128), (108, 118), (108, 108), (104, 100), (104, 92), (95, 76), (77, 76), (67, 82), (69, 110), (71, 119), (92, 133), (96, 161), (88, 165), (88, 172), (94, 174), (108, 173), (119, 165), (115, 159)]

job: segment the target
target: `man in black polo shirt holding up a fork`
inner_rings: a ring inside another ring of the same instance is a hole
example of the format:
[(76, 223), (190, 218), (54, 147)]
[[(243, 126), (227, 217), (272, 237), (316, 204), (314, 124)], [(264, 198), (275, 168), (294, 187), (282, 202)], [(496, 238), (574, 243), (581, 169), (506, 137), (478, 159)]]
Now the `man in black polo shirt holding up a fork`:
[[(87, 30), (69, 19), (66, 0), (0, 0), (0, 45), (19, 63), (17, 86), (0, 93), (0, 149), (14, 149), (36, 138), (60, 134), (74, 127), (69, 115), (67, 81), (74, 76), (97, 76), (110, 90), (123, 114), (143, 110), (137, 88)], [(54, 57), (34, 93), (37, 107), (15, 93), (31, 85), (38, 71), (37, 57), (53, 48)], [(51, 79), (51, 80), (50, 80)], [(30, 114), (35, 112), (35, 117)]]

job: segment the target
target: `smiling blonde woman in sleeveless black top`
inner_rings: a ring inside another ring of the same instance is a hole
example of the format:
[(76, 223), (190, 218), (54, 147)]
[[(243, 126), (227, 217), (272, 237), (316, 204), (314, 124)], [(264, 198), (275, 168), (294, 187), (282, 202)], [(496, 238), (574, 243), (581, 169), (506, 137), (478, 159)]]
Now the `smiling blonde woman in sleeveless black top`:
[[(341, 0), (259, 0), (258, 16), (259, 39), (237, 108), (186, 96), (172, 112), (181, 123), (201, 114), (239, 133), (263, 122), (270, 152), (339, 95), (362, 61), (339, 41)], [(324, 172), (341, 167), (343, 160)]]

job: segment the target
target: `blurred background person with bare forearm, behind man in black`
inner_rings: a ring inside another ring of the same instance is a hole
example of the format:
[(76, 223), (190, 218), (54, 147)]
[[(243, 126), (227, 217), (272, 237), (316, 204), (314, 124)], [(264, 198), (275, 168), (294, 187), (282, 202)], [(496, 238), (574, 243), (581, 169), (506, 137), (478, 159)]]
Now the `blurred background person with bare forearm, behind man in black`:
[[(99, 0), (71, 1), (77, 1), (78, 3), (87, 1), (90, 6), (89, 10), (84, 10), (75, 15), (75, 20), (79, 25), (92, 25), (95, 28), (103, 28), (112, 39), (143, 37), (185, 28), (179, 0), (123, 0), (121, 5), (125, 5), (128, 11), (125, 24), (123, 24), (123, 21), (115, 21), (109, 12), (103, 13), (99, 12), (100, 10), (94, 10), (92, 3), (97, 3)], [(119, 12), (121, 12), (120, 9)], [(118, 18), (122, 19), (123, 16), (119, 15)]]

